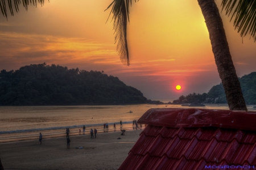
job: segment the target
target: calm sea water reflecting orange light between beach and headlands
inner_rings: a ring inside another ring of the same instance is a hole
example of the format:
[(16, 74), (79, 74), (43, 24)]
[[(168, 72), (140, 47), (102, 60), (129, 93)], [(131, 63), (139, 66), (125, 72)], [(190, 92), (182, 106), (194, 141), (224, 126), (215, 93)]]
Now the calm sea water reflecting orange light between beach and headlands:
[[(249, 110), (253, 106), (247, 106)], [(18, 140), (37, 139), (39, 132), (44, 138), (65, 135), (65, 128), (71, 135), (78, 135), (79, 129), (86, 126), (103, 132), (103, 124), (113, 124), (122, 120), (123, 128), (133, 128), (131, 123), (138, 120), (150, 108), (191, 108), (181, 105), (98, 105), (98, 106), (0, 106), (0, 143)], [(226, 104), (208, 104), (201, 109), (228, 109)], [(131, 111), (131, 113), (130, 113)]]

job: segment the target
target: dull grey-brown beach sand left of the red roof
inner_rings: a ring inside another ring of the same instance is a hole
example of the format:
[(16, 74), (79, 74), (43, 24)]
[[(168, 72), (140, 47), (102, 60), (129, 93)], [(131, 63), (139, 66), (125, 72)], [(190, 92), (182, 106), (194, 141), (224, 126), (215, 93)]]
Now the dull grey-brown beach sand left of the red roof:
[[(118, 169), (139, 138), (142, 130), (102, 132), (0, 144), (0, 158), (6, 169)], [(121, 138), (121, 139), (117, 139)], [(77, 149), (75, 147), (83, 147)]]

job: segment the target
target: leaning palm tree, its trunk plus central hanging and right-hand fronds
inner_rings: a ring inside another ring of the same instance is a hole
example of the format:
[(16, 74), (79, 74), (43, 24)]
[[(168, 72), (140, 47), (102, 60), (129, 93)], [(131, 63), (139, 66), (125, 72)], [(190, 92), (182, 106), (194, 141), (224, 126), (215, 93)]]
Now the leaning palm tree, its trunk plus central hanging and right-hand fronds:
[[(209, 31), (210, 43), (215, 63), (225, 89), (226, 99), (230, 110), (246, 110), (245, 99), (238, 80), (236, 69), (229, 52), (228, 41), (222, 19), (214, 0), (197, 0), (205, 18)], [(136, 0), (135, 0), (136, 2)], [(129, 20), (129, 5), (131, 0), (114, 0), (110, 14), (113, 14), (115, 41), (123, 64), (129, 65), (129, 53), (126, 40), (127, 19)], [(256, 40), (256, 1), (251, 0), (222, 0), (222, 10), (234, 19), (234, 26), (245, 36), (247, 32)], [(233, 11), (233, 14), (232, 14)], [(232, 15), (230, 15), (232, 14)], [(125, 19), (127, 18), (127, 19)]]

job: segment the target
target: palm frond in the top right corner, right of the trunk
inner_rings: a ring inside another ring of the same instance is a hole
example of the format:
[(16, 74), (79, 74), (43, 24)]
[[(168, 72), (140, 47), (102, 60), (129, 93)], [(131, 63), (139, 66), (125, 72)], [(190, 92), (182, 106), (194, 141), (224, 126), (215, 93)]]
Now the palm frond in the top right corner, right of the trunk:
[(256, 41), (256, 1), (255, 0), (222, 0), (222, 10), (234, 18), (234, 26), (243, 37), (248, 32)]

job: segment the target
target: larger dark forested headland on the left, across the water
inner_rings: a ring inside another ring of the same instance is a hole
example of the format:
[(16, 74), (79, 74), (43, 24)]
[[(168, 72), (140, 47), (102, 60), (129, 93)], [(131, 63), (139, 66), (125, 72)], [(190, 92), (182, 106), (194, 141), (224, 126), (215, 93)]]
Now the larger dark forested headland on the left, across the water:
[(141, 91), (118, 77), (60, 65), (31, 64), (0, 72), (0, 105), (94, 105), (146, 103)]

